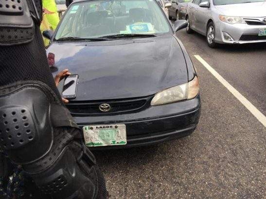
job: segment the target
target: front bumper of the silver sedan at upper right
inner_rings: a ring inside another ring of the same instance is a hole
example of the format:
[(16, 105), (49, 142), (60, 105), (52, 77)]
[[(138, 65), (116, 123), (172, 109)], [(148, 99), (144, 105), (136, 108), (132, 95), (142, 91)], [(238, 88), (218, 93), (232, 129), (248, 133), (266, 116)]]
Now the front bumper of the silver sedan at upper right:
[[(266, 25), (229, 24), (222, 21), (216, 24), (216, 43), (226, 44), (247, 44), (266, 42), (266, 36), (258, 36), (259, 29), (266, 28)], [(227, 41), (223, 37), (223, 32), (228, 33), (233, 41)]]

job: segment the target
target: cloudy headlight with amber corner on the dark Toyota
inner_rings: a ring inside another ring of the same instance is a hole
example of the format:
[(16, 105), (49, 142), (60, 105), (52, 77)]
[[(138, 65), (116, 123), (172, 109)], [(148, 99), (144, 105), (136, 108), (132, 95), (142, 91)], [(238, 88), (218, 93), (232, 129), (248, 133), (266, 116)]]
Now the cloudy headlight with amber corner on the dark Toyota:
[(193, 99), (199, 92), (197, 76), (189, 83), (183, 83), (171, 88), (167, 88), (157, 93), (151, 101), (152, 106), (171, 103), (184, 99)]

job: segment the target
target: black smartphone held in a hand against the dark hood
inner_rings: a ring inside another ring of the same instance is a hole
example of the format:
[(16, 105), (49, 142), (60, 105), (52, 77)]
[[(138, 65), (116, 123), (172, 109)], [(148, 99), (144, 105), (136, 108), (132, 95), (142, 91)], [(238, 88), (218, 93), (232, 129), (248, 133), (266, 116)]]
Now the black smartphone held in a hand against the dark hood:
[(75, 99), (77, 96), (78, 75), (69, 75), (65, 79), (62, 97), (66, 99)]

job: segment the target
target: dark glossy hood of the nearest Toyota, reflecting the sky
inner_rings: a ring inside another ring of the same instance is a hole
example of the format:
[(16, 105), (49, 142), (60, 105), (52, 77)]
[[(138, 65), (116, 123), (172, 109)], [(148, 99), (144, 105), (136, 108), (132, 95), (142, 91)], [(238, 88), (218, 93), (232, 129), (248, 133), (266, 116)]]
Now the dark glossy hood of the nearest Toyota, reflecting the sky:
[(136, 98), (188, 82), (183, 52), (174, 36), (102, 42), (53, 43), (53, 75), (79, 75), (76, 100)]

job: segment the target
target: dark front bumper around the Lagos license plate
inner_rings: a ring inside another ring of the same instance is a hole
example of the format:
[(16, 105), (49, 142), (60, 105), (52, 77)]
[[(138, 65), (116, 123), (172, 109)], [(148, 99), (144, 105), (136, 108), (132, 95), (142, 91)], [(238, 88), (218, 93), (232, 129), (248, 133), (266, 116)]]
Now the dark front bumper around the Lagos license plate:
[(195, 99), (160, 106), (150, 106), (138, 113), (112, 116), (74, 117), (83, 128), (92, 124), (125, 124), (127, 144), (93, 147), (118, 149), (139, 147), (187, 136), (195, 130), (200, 116), (200, 96)]

